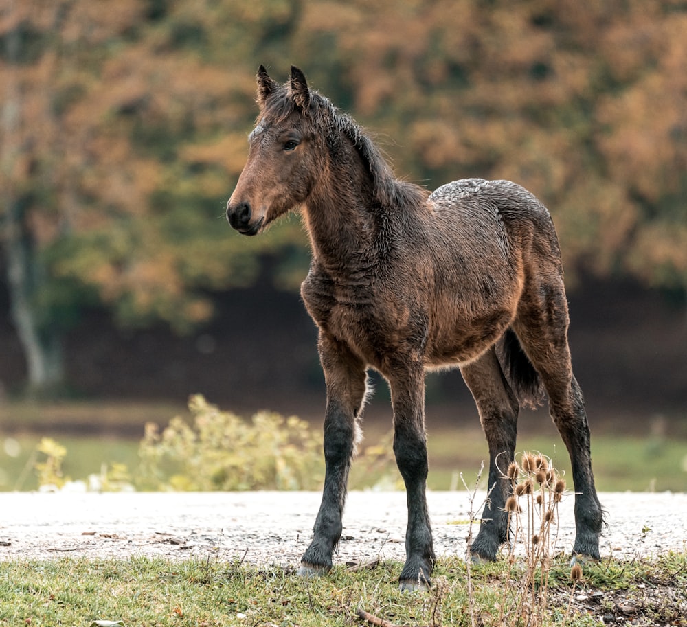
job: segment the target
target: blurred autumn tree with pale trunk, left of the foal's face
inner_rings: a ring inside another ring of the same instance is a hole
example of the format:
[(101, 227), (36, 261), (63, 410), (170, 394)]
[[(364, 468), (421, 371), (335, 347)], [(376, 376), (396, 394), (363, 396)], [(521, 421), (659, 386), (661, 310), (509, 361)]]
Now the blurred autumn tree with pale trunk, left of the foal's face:
[(250, 282), (261, 253), (300, 237), (293, 224), (251, 249), (227, 237), (254, 81), (203, 62), (218, 25), (188, 20), (189, 6), (15, 2), (1, 15), (1, 242), (33, 394), (63, 384), (60, 339), (84, 302), (184, 332), (212, 314), (208, 293)]

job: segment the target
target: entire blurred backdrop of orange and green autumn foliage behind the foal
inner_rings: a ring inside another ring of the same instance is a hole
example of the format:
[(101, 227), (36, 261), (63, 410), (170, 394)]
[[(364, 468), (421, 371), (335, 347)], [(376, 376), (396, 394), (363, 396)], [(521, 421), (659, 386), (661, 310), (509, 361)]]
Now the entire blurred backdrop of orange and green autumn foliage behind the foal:
[(122, 323), (188, 330), (212, 315), (212, 293), (250, 284), (265, 253), (275, 280), (297, 285), (297, 221), (248, 245), (223, 218), (260, 63), (273, 76), (302, 67), (374, 129), (399, 176), (528, 187), (554, 216), (571, 285), (586, 271), (684, 294), (685, 33), (677, 0), (11, 0), (10, 294), (19, 251), (43, 329), (95, 301)]

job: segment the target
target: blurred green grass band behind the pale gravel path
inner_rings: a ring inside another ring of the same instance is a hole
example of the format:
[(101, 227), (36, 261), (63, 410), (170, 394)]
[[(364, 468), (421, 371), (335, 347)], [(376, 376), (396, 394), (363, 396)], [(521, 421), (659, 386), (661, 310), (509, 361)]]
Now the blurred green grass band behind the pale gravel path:
[[(60, 435), (49, 427), (45, 428), (45, 435), (51, 435), (67, 448), (64, 470), (65, 475), (73, 479), (85, 479), (92, 473), (100, 473), (102, 464), (117, 462), (125, 464), (131, 471), (138, 464), (138, 437)], [(141, 430), (140, 437), (142, 435)], [(385, 427), (366, 429), (363, 451), (368, 446), (384, 442), (386, 435)], [(35, 490), (38, 487), (33, 464), (40, 439), (37, 435), (3, 436), (0, 433), (0, 491)], [(362, 457), (353, 464), (352, 488), (370, 486), (383, 476), (391, 477), (387, 481), (389, 487), (396, 485), (396, 479), (400, 480), (390, 443), (385, 442), (384, 446), (388, 455), (377, 461), (373, 468), (367, 466)], [(479, 429), (436, 426), (428, 430), (428, 446), (428, 485), (432, 490), (461, 489), (458, 472), (473, 470), (480, 466), (482, 460), (486, 461), (486, 441)], [(519, 451), (545, 451), (556, 467), (570, 476), (567, 451), (556, 435), (523, 434), (519, 437), (518, 448)], [(680, 440), (595, 433), (592, 458), (596, 486), (601, 492), (684, 492), (687, 485), (686, 451), (687, 442)]]

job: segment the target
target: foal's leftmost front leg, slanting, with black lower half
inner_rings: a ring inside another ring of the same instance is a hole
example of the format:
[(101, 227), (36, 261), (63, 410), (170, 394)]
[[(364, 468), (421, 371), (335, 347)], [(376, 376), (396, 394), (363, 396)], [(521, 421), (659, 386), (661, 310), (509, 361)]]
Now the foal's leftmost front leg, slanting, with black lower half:
[(327, 387), (324, 418), (324, 489), (313, 527), (313, 540), (301, 558), (298, 574), (322, 575), (332, 567), (332, 554), (341, 538), (348, 472), (360, 428), (359, 414), (367, 390), (365, 364), (346, 347), (320, 336), (319, 354)]

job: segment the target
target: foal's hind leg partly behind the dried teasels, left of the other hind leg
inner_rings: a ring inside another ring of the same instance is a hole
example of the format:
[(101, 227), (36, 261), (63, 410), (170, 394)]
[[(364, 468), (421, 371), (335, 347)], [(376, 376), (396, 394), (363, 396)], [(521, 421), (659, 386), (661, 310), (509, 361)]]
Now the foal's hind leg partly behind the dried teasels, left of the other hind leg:
[(504, 505), (512, 486), (506, 472), (515, 455), (519, 406), (494, 348), (477, 361), (463, 366), (461, 373), (477, 404), (489, 446), (489, 493), (471, 554), (473, 560), (493, 561), (499, 547), (508, 539), (508, 516)]

